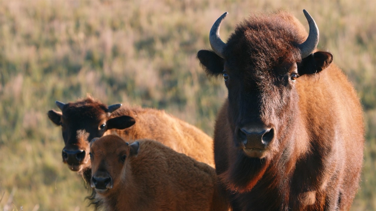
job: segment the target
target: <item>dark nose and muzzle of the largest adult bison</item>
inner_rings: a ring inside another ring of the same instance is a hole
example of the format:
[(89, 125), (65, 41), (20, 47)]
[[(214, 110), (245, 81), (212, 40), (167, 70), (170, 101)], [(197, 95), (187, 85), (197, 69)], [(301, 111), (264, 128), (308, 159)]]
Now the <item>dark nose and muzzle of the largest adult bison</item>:
[(273, 140), (273, 128), (242, 127), (237, 131), (239, 142), (247, 149), (266, 149)]

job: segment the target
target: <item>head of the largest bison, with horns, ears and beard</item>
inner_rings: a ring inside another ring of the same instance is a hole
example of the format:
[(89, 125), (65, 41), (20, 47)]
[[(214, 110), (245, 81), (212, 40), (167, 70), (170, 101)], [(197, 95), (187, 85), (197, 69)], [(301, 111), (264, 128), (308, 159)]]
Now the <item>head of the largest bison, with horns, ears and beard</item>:
[[(296, 87), (304, 86), (299, 77), (319, 73), (332, 62), (332, 54), (314, 53), (318, 28), (308, 12), (303, 12), (309, 23), (308, 37), (296, 18), (279, 12), (250, 17), (224, 43), (219, 28), (226, 12), (210, 31), (213, 51), (197, 54), (207, 74), (222, 75), (228, 89), (227, 108), (219, 114), (226, 117), (218, 117), (227, 123), (217, 120), (216, 125), (216, 131), (228, 131), (218, 139), (227, 140), (215, 140), (215, 148), (230, 148), (222, 177), (231, 180), (234, 189), (252, 188), (276, 156), (289, 153), (294, 144), (289, 142), (291, 131), (299, 130)], [(223, 126), (227, 128), (218, 128)], [(216, 146), (218, 143), (227, 146)]]

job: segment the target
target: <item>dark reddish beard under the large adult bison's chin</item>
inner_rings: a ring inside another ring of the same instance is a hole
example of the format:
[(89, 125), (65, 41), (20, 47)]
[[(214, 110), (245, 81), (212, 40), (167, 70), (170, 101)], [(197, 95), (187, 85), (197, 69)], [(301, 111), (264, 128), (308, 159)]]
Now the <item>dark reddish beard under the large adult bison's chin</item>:
[(251, 158), (243, 153), (237, 153), (235, 162), (229, 169), (219, 175), (222, 184), (227, 189), (237, 193), (250, 191), (262, 178), (270, 164), (268, 158)]

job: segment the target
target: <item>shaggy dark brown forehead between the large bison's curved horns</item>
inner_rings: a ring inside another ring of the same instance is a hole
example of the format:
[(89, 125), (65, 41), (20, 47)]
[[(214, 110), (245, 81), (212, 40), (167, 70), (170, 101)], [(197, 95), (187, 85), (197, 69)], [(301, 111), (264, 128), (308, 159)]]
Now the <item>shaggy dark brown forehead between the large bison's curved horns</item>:
[(306, 33), (302, 33), (302, 24), (290, 16), (250, 17), (241, 23), (227, 41), (226, 62), (238, 71), (253, 72), (285, 71), (284, 66), (300, 62), (298, 45)]

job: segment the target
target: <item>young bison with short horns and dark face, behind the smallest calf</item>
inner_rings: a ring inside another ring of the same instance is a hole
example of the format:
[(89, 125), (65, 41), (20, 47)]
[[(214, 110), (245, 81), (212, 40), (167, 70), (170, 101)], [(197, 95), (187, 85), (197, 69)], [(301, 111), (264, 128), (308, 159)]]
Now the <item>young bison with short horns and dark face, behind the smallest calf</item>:
[(214, 166), (212, 138), (163, 110), (125, 107), (121, 104), (107, 107), (91, 96), (67, 104), (56, 101), (56, 105), (62, 112), (50, 110), (48, 116), (53, 123), (61, 125), (65, 142), (63, 161), (71, 170), (82, 174), (86, 182), (91, 179), (88, 156), (90, 140), (111, 133), (118, 134), (128, 142), (153, 139)]

